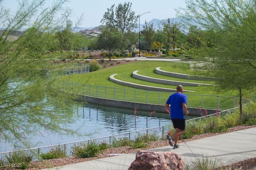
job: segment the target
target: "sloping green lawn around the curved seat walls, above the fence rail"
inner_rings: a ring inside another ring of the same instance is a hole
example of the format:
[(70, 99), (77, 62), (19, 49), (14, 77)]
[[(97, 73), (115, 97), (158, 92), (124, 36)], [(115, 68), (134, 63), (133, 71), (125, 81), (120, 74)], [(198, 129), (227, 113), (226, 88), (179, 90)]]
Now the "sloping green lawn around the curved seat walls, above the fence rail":
[[(142, 84), (147, 86), (176, 89), (176, 86), (152, 83), (152, 82), (147, 82), (147, 81), (133, 78), (132, 72), (136, 70), (140, 70), (138, 72), (139, 74), (154, 77), (154, 78), (162, 78), (166, 80), (175, 80), (175, 81), (181, 81), (181, 82), (195, 82), (195, 83), (207, 83), (207, 84), (215, 83), (214, 81), (208, 82), (208, 81), (198, 81), (198, 80), (187, 80), (182, 78), (172, 78), (168, 76), (159, 75), (154, 72), (154, 70), (157, 67), (161, 67), (161, 70), (177, 72), (181, 74), (194, 73), (194, 70), (190, 70), (190, 65), (186, 63), (175, 63), (175, 62), (169, 62), (169, 61), (137, 61), (137, 62), (122, 64), (122, 65), (114, 66), (110, 68), (104, 68), (95, 72), (90, 72), (88, 74), (74, 74), (70, 76), (63, 76), (63, 77), (60, 77), (60, 79), (68, 80), (70, 82), (78, 82), (82, 84), (135, 89), (127, 86), (122, 86), (120, 84), (116, 84), (109, 80), (110, 75), (117, 74), (115, 78), (126, 81), (126, 82), (132, 82), (132, 83)], [(238, 96), (238, 92), (233, 92), (233, 91), (220, 92), (216, 89), (215, 86), (184, 86), (184, 90), (196, 91), (196, 92), (186, 92), (189, 94), (192, 93), (192, 94), (208, 94), (208, 95), (218, 95), (218, 96)]]

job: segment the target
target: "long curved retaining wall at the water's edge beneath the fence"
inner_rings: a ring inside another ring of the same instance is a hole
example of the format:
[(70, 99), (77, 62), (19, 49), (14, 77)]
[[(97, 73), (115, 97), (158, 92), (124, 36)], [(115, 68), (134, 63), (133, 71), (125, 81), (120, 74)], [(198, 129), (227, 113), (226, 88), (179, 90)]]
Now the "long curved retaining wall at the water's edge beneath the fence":
[[(146, 111), (156, 111), (161, 113), (166, 113), (165, 107), (161, 105), (154, 105), (154, 104), (142, 104), (142, 103), (134, 103), (134, 102), (124, 102), (119, 100), (109, 100), (103, 98), (94, 98), (89, 96), (78, 95), (77, 100), (83, 102), (89, 102), (94, 104), (106, 105), (106, 106), (114, 106), (114, 107), (122, 107), (128, 109), (139, 109), (139, 110), (146, 110)], [(166, 99), (167, 100), (167, 99)], [(200, 111), (198, 108), (188, 108), (189, 115), (196, 115), (200, 116)], [(216, 113), (216, 110), (207, 109), (208, 115)]]

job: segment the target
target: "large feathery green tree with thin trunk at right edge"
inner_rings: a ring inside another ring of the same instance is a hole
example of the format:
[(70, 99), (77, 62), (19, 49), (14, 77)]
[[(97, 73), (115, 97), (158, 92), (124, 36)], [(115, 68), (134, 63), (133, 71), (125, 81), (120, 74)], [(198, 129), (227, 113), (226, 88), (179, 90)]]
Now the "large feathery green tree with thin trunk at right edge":
[(209, 61), (204, 69), (220, 77), (221, 90), (239, 91), (242, 114), (242, 90), (251, 90), (256, 83), (255, 2), (186, 0), (186, 4), (187, 8), (181, 15), (186, 23), (200, 25), (212, 33), (209, 43), (214, 43), (206, 45)]

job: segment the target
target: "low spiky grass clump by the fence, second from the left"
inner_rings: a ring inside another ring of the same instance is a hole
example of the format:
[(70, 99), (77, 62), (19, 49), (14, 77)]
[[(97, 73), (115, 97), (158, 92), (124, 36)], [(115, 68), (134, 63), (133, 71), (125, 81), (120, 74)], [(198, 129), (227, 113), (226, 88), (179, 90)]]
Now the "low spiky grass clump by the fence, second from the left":
[(40, 156), (42, 159), (55, 159), (55, 158), (64, 158), (67, 156), (66, 146), (56, 146), (51, 148), (49, 152), (42, 153)]

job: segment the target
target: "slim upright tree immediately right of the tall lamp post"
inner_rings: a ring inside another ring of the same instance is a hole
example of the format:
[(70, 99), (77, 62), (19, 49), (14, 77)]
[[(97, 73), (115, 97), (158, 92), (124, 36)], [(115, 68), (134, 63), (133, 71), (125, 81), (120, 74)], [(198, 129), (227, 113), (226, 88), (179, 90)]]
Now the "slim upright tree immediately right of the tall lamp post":
[(144, 41), (146, 43), (146, 48), (151, 48), (151, 45), (153, 43), (154, 34), (155, 34), (153, 23), (149, 24), (145, 21), (145, 25), (143, 25), (141, 34), (144, 37)]

